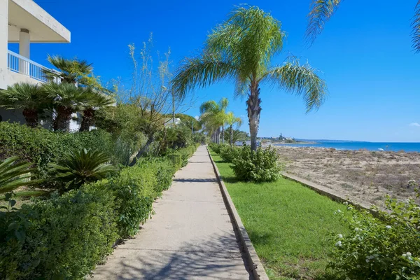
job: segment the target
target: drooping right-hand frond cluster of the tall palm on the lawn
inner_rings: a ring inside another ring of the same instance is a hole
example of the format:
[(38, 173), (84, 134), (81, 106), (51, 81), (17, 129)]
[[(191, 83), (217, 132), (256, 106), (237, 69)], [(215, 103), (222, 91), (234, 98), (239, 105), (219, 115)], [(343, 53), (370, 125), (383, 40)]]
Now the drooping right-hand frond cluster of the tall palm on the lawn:
[(328, 92), (325, 80), (321, 79), (308, 63), (299, 64), (298, 59), (289, 59), (282, 66), (270, 69), (264, 80), (272, 85), (297, 95), (303, 95), (307, 112), (318, 109), (325, 99)]

